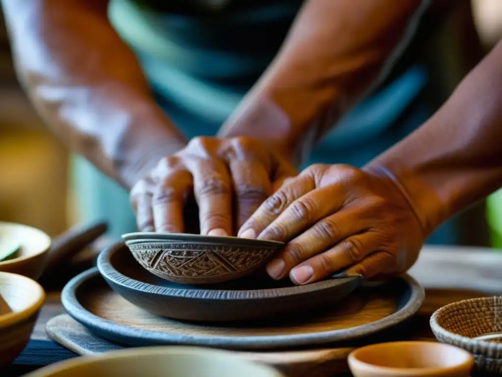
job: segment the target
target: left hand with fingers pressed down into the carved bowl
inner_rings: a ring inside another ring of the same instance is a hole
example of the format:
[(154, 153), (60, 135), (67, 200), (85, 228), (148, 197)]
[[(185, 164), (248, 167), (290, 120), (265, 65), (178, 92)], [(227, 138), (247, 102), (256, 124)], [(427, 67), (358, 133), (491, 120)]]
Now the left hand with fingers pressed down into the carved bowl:
[(255, 139), (197, 137), (135, 184), (131, 204), (140, 231), (182, 233), (184, 205), (193, 193), (200, 233), (232, 235), (234, 226), (238, 229), (295, 173), (284, 158)]

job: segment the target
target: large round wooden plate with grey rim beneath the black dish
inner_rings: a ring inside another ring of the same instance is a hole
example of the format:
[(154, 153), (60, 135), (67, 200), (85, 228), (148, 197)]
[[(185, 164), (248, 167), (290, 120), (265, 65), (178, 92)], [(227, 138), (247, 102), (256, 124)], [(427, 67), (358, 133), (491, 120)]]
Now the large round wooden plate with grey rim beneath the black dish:
[(97, 269), (90, 269), (68, 282), (61, 301), (90, 331), (121, 344), (277, 349), (379, 334), (410, 319), (424, 297), (418, 282), (405, 275), (386, 286), (358, 289), (336, 309), (318, 315), (305, 310), (303, 315), (238, 324), (190, 323), (158, 317), (131, 304), (109, 288)]

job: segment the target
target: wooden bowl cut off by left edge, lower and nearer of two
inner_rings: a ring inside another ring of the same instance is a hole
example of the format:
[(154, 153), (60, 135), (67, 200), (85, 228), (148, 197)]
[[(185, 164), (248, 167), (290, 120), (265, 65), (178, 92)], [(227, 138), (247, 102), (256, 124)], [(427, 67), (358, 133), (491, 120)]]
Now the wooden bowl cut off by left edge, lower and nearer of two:
[(0, 300), (4, 304), (0, 309), (3, 313), (0, 314), (0, 366), (5, 366), (30, 340), (45, 293), (38, 282), (29, 277), (0, 272)]

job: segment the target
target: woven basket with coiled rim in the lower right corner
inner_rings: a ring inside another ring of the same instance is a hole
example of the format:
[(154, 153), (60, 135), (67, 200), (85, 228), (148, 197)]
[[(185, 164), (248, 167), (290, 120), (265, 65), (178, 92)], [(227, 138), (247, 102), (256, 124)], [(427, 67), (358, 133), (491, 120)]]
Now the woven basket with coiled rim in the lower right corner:
[[(473, 371), (502, 374), (502, 296), (463, 300), (438, 309), (430, 326), (437, 340), (469, 351)], [(489, 340), (477, 337), (499, 333)]]

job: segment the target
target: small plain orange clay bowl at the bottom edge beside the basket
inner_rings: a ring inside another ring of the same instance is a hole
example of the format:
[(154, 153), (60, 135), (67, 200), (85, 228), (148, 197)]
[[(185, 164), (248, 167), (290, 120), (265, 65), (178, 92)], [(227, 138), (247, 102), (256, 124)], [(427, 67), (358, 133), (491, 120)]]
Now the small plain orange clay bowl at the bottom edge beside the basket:
[(472, 355), (436, 342), (390, 342), (358, 348), (348, 355), (354, 377), (469, 377)]

